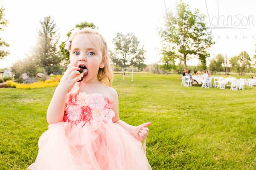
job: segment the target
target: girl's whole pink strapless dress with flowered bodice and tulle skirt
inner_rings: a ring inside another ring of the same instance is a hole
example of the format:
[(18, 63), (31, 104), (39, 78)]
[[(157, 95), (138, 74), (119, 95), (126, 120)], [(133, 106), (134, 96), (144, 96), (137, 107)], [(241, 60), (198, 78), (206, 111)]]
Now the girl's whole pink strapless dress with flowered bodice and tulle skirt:
[(63, 122), (48, 125), (27, 170), (151, 170), (145, 139), (112, 122), (113, 103), (102, 94), (67, 94)]

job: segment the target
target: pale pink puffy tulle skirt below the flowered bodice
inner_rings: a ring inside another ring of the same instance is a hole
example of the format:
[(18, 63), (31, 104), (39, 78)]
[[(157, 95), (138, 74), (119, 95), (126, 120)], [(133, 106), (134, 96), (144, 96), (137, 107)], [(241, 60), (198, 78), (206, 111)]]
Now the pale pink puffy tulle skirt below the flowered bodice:
[(145, 141), (113, 122), (58, 122), (38, 140), (27, 170), (151, 170)]

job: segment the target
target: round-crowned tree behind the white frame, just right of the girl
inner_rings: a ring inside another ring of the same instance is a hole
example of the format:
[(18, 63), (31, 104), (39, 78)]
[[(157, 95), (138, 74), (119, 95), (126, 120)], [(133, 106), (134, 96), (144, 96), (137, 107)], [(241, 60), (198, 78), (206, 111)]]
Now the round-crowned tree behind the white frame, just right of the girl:
[(134, 65), (140, 69), (143, 69), (145, 65), (143, 64), (145, 57), (145, 50), (138, 48), (140, 41), (133, 33), (128, 33), (126, 35), (118, 32), (116, 37), (113, 39), (113, 44), (115, 45), (115, 54), (120, 54), (122, 57), (122, 67), (127, 67), (129, 65)]

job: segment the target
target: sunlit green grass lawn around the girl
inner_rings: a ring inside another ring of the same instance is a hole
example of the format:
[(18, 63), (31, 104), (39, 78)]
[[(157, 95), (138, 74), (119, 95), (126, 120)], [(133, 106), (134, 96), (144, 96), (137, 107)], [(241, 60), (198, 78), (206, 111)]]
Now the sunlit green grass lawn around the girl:
[[(114, 78), (120, 118), (152, 122), (147, 157), (153, 170), (256, 169), (256, 87), (186, 88), (177, 74)], [(0, 170), (24, 170), (35, 161), (54, 90), (0, 89)]]

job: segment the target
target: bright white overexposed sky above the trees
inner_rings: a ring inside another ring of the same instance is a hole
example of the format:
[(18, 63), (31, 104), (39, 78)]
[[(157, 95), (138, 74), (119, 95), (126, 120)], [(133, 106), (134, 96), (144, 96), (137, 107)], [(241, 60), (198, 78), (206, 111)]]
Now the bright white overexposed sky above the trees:
[[(216, 54), (227, 57), (247, 51), (255, 54), (256, 2), (251, 0), (183, 0), (192, 10), (198, 8), (216, 42), (209, 48), (212, 59)], [(23, 59), (35, 46), (40, 20), (51, 16), (60, 32), (60, 43), (77, 23), (93, 22), (105, 37), (110, 49), (117, 32), (134, 33), (146, 50), (146, 64), (159, 61), (161, 42), (158, 28), (163, 27), (166, 8), (175, 12), (179, 0), (2, 0), (9, 24), (0, 37), (10, 44), (9, 54), (0, 60), (0, 68), (10, 67)], [(228, 21), (227, 21), (228, 19)], [(209, 64), (208, 59), (208, 64)], [(191, 59), (188, 65), (197, 65)]]

